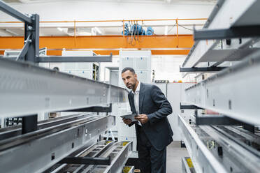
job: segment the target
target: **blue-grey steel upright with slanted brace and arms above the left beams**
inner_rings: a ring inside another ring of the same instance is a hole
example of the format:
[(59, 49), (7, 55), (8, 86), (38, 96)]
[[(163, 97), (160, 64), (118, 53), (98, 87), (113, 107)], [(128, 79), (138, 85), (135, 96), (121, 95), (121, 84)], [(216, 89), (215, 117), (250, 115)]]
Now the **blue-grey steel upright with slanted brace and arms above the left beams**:
[(93, 57), (39, 57), (39, 15), (24, 15), (0, 0), (0, 10), (24, 22), (24, 47), (16, 58), (20, 61), (39, 62), (111, 62), (110, 56)]

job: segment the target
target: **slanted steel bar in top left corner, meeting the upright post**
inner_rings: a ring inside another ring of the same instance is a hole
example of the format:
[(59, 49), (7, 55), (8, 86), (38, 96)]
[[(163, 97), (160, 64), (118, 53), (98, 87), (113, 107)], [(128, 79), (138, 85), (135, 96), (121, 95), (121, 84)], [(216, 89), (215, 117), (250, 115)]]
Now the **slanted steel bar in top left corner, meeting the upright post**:
[(30, 17), (28, 17), (27, 15), (24, 15), (24, 14), (20, 13), (19, 11), (15, 10), (14, 8), (8, 6), (3, 1), (0, 1), (0, 10), (2, 10), (4, 13), (6, 13), (8, 15), (15, 17), (17, 20), (26, 22), (28, 24), (32, 23), (32, 20)]

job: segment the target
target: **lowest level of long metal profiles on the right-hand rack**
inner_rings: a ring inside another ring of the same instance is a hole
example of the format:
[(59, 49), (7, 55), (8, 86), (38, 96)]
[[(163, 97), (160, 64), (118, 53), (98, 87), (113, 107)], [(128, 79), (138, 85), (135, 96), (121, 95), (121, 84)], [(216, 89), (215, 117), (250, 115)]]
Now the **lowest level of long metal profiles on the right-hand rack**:
[(259, 137), (235, 126), (189, 125), (178, 116), (184, 142), (199, 172), (259, 172)]

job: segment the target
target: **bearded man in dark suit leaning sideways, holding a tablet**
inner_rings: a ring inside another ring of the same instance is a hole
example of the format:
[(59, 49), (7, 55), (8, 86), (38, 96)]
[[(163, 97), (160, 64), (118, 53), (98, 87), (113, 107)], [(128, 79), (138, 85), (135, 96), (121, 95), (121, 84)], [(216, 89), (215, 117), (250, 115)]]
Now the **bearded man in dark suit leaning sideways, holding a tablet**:
[(166, 117), (173, 112), (171, 104), (159, 87), (139, 82), (133, 68), (122, 70), (122, 80), (131, 89), (128, 95), (131, 111), (138, 115), (137, 121), (123, 121), (136, 126), (141, 173), (165, 173), (166, 146), (173, 141), (173, 131)]

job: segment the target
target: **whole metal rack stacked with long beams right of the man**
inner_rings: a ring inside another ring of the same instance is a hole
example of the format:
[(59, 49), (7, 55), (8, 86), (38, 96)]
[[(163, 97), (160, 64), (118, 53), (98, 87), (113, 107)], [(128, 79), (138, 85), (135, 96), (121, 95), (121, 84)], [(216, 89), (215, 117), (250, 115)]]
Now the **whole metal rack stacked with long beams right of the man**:
[(180, 107), (194, 115), (190, 123), (179, 115), (178, 123), (196, 172), (260, 169), (259, 8), (255, 0), (219, 0), (203, 29), (194, 30), (180, 72), (211, 75), (185, 89), (187, 105)]

